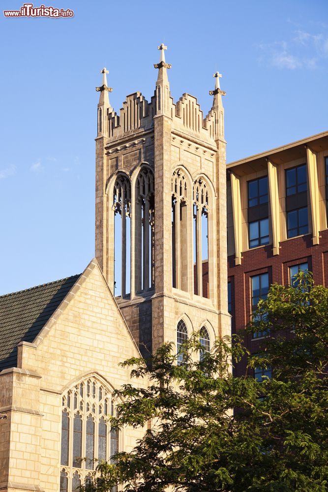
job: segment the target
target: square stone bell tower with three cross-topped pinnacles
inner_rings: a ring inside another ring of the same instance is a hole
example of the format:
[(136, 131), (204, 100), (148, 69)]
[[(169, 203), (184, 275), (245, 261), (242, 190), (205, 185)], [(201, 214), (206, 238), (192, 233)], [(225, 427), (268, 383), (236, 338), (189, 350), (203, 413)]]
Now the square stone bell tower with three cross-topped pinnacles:
[(221, 75), (203, 118), (190, 94), (173, 102), (167, 48), (158, 49), (150, 102), (130, 94), (118, 116), (105, 68), (96, 88), (95, 255), (144, 354), (193, 330), (209, 346), (231, 333)]

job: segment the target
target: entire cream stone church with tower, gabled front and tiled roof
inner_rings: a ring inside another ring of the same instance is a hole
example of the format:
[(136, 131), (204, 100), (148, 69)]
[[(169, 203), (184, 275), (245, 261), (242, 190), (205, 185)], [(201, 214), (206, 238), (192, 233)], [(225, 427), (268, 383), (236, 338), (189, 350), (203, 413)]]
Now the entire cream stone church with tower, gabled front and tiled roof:
[[(226, 165), (219, 74), (203, 119), (170, 95), (164, 45), (150, 102), (111, 107), (102, 70), (96, 137), (96, 258), (84, 272), (0, 296), (0, 490), (77, 492), (94, 460), (129, 452), (112, 432), (120, 364), (200, 331), (230, 334)], [(179, 354), (183, 363), (183, 355)]]

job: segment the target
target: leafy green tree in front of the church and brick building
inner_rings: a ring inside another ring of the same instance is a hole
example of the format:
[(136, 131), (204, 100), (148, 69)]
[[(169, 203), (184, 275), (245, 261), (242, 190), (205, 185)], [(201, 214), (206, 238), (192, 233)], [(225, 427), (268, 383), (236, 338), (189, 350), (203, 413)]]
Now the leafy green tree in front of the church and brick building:
[[(273, 285), (254, 319), (249, 333), (270, 333), (256, 356), (223, 339), (199, 357), (195, 335), (185, 364), (170, 343), (122, 364), (149, 385), (116, 392), (112, 425), (144, 436), (116, 464), (100, 463), (82, 490), (328, 491), (328, 289), (301, 273), (294, 287)], [(232, 377), (231, 359), (244, 357), (249, 375)], [(256, 381), (258, 367), (273, 377)]]

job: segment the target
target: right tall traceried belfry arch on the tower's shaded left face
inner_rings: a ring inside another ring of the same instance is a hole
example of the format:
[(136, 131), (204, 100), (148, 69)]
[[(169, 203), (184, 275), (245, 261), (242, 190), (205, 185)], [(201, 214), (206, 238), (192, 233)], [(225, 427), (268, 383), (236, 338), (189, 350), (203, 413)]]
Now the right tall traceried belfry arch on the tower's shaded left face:
[(154, 286), (154, 175), (143, 168), (136, 181), (136, 290)]

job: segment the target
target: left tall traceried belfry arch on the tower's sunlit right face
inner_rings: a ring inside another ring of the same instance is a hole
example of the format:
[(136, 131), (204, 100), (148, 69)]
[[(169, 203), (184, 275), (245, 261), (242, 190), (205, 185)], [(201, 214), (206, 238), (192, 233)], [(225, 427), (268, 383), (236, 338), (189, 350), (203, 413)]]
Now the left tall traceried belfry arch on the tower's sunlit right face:
[(183, 172), (172, 176), (172, 285), (188, 291), (188, 186)]

